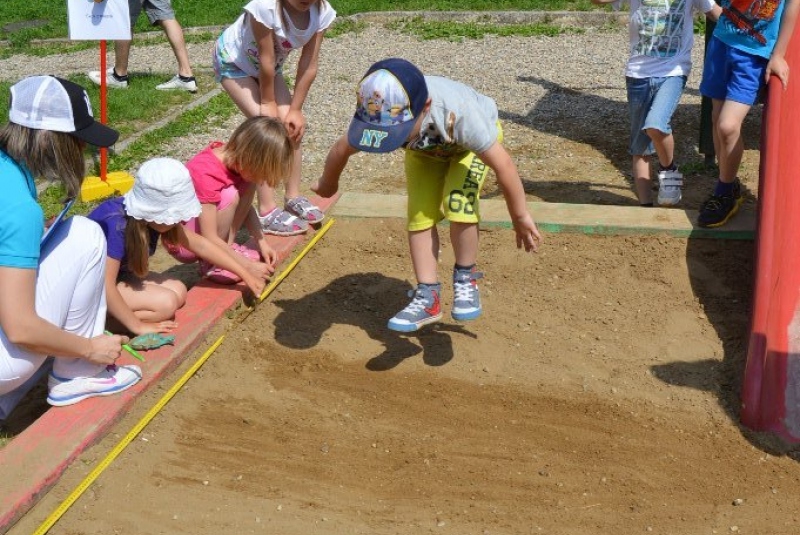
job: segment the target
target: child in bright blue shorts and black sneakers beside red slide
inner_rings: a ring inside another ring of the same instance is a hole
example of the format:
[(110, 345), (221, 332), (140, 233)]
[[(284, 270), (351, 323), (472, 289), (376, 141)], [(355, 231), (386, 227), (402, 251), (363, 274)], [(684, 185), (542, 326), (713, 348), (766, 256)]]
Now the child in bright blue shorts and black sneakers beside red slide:
[(742, 205), (737, 173), (744, 143), (742, 123), (771, 75), (789, 81), (785, 55), (798, 0), (722, 0), (722, 15), (708, 42), (700, 92), (711, 99), (719, 180), (700, 207), (697, 224), (719, 227)]

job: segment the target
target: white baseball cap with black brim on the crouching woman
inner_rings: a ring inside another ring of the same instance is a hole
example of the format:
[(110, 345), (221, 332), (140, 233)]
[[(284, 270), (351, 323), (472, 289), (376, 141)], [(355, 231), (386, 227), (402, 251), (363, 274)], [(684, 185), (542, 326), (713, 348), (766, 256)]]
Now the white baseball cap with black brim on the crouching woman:
[(86, 90), (55, 76), (30, 76), (11, 86), (8, 120), (37, 130), (66, 132), (98, 147), (110, 147), (119, 133), (94, 120)]

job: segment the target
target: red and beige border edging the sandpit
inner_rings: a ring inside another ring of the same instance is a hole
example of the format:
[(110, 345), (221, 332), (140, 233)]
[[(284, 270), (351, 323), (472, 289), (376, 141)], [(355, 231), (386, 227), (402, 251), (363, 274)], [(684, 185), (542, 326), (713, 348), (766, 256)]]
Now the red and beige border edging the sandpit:
[[(339, 198), (315, 199), (335, 217), (405, 217), (402, 196), (345, 193)], [(699, 229), (696, 212), (680, 209), (642, 209), (622, 206), (529, 203), (543, 232), (577, 231), (591, 234), (656, 234), (678, 237), (752, 239), (755, 218), (743, 213), (722, 229)], [(486, 224), (510, 226), (505, 203), (481, 201)], [(313, 234), (274, 238), (281, 264)], [(176, 345), (146, 353), (144, 378), (115, 396), (93, 398), (70, 407), (48, 410), (33, 425), (0, 449), (0, 533), (7, 531), (59, 479), (78, 455), (103, 438), (131, 408), (136, 398), (174, 371), (228, 310), (242, 302), (242, 286), (222, 287), (200, 283), (178, 312), (180, 329)], [(13, 485), (10, 484), (13, 482)]]

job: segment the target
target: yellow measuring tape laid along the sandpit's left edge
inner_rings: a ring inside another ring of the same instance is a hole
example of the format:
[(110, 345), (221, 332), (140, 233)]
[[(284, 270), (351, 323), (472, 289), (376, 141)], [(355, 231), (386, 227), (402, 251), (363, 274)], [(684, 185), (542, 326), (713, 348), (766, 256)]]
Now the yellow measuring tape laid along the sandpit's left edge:
[[(292, 262), (288, 266), (286, 266), (286, 269), (284, 269), (281, 272), (281, 274), (264, 290), (264, 292), (261, 294), (261, 297), (259, 298), (258, 301), (259, 303), (263, 301), (269, 294), (271, 294), (272, 291), (275, 288), (277, 288), (277, 286), (281, 283), (281, 281), (283, 281), (283, 279), (285, 279), (286, 276), (289, 273), (291, 273), (291, 271), (306, 255), (306, 253), (308, 253), (308, 251), (310, 251), (311, 248), (317, 244), (317, 242), (322, 238), (322, 236), (324, 236), (325, 233), (328, 232), (328, 229), (330, 229), (334, 221), (335, 220), (333, 218), (329, 219), (328, 222), (325, 225), (323, 225), (323, 227), (320, 230), (316, 232), (314, 238), (308, 242), (308, 244), (305, 246), (305, 248), (303, 248), (300, 254), (298, 254), (297, 257), (295, 257), (295, 259), (292, 260)], [(183, 388), (183, 386), (189, 381), (189, 379), (191, 379), (192, 376), (195, 373), (197, 373), (197, 370), (199, 370), (200, 367), (206, 363), (206, 361), (211, 357), (214, 351), (216, 351), (217, 348), (222, 344), (223, 340), (225, 340), (224, 334), (219, 338), (217, 338), (217, 340), (213, 344), (211, 344), (211, 347), (209, 347), (208, 350), (205, 353), (203, 353), (203, 356), (197, 359), (197, 362), (195, 362), (192, 365), (192, 367), (189, 368), (186, 371), (186, 373), (183, 374), (183, 376), (180, 379), (178, 379), (178, 381), (174, 385), (172, 385), (172, 388), (167, 390), (167, 392), (158, 401), (158, 403), (156, 403), (153, 406), (153, 408), (151, 408), (147, 412), (147, 414), (145, 414), (144, 417), (142, 417), (142, 419), (139, 420), (139, 423), (133, 426), (133, 429), (131, 429), (130, 432), (128, 432), (128, 434), (125, 435), (125, 437), (123, 437), (123, 439), (120, 440), (116, 446), (114, 446), (111, 452), (109, 452), (109, 454), (102, 461), (100, 461), (100, 463), (89, 473), (89, 475), (86, 476), (86, 478), (83, 481), (81, 481), (77, 487), (75, 487), (75, 490), (73, 490), (70, 493), (70, 495), (67, 496), (67, 498), (63, 502), (61, 502), (61, 504), (58, 507), (56, 507), (55, 511), (53, 511), (45, 519), (44, 522), (42, 522), (42, 524), (36, 529), (36, 531), (33, 532), (33, 535), (44, 535), (50, 530), (50, 528), (52, 528), (55, 525), (56, 522), (58, 522), (58, 520), (62, 516), (64, 516), (64, 514), (69, 510), (69, 508), (72, 507), (72, 505), (78, 500), (78, 498), (80, 498), (81, 495), (84, 492), (86, 492), (89, 486), (91, 486), (91, 484), (94, 483), (98, 477), (100, 477), (100, 474), (102, 474), (103, 471), (111, 465), (114, 459), (116, 459), (120, 455), (120, 453), (122, 453), (122, 451), (133, 441), (133, 439), (136, 438), (136, 436), (142, 432), (142, 430), (147, 426), (147, 424), (149, 424), (152, 421), (152, 419), (155, 418), (159, 412), (161, 412), (161, 409), (163, 409), (164, 406), (173, 397), (175, 397), (175, 394), (177, 394), (178, 391), (181, 388)]]

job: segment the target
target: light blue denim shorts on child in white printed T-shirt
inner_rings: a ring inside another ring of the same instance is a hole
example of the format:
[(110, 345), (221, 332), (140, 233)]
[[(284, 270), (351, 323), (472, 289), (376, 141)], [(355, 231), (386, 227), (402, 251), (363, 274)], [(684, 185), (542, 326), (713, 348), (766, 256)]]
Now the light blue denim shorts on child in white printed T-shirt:
[(634, 156), (653, 154), (655, 148), (645, 130), (654, 128), (665, 134), (672, 133), (670, 122), (686, 86), (686, 77), (626, 77), (625, 85), (631, 118), (630, 153)]

